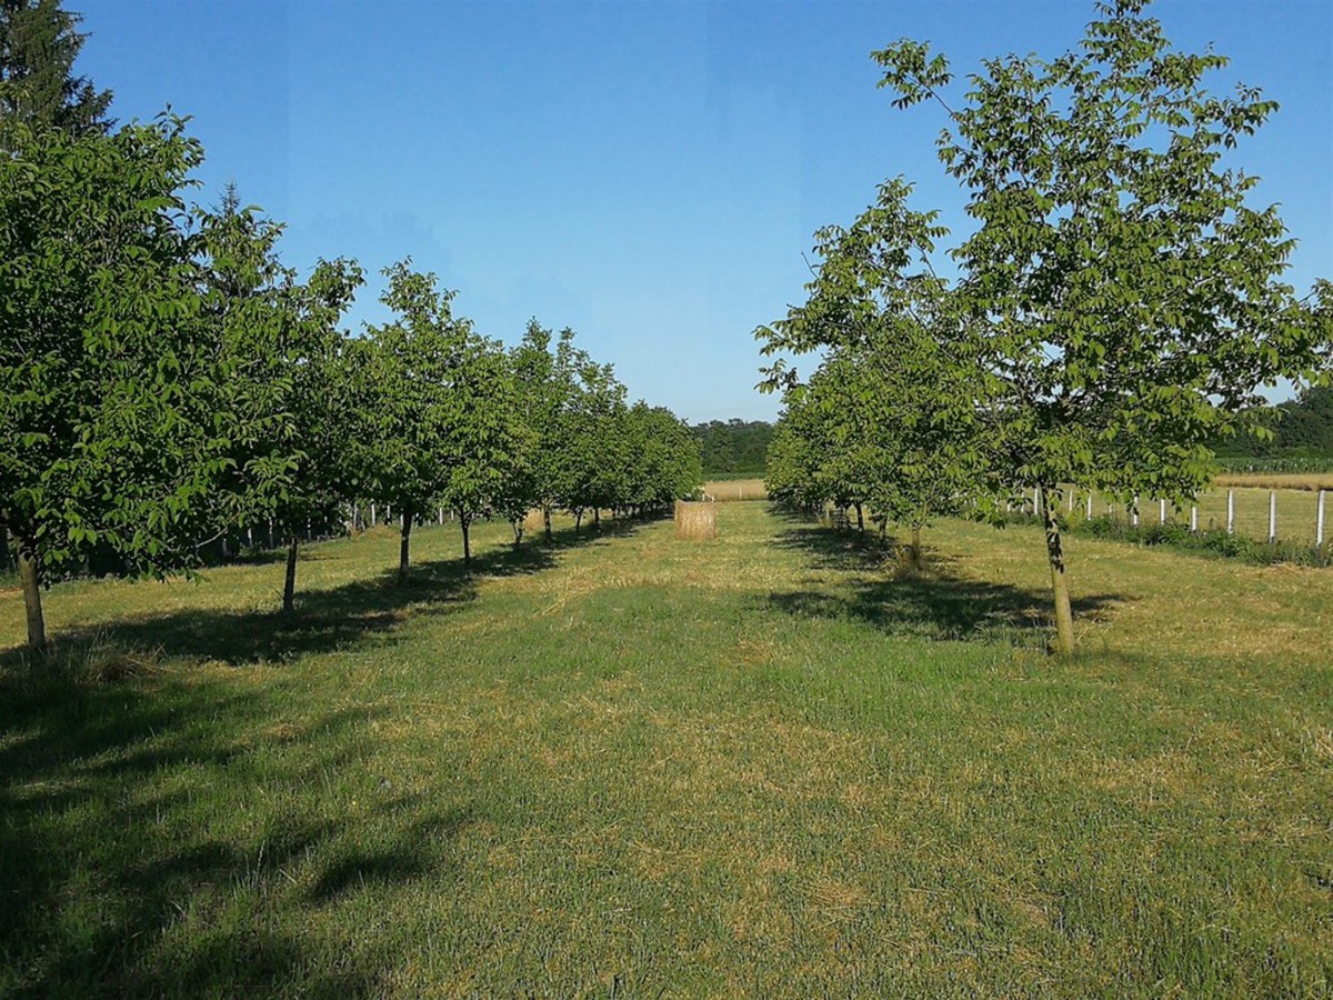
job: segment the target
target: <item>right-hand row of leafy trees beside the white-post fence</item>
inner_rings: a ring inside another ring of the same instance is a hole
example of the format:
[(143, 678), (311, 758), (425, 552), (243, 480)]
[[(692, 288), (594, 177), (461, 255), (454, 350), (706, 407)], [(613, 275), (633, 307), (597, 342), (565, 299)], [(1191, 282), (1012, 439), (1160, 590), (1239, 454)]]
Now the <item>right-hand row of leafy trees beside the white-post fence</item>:
[[(817, 235), (808, 300), (756, 336), (785, 391), (769, 489), (869, 505), (920, 529), (932, 513), (998, 520), (1010, 491), (1045, 492), (1057, 647), (1073, 648), (1062, 489), (1186, 503), (1210, 443), (1264, 428), (1260, 391), (1328, 379), (1333, 285), (1281, 280), (1292, 251), (1256, 179), (1224, 152), (1274, 111), (1258, 91), (1209, 93), (1226, 60), (1176, 51), (1146, 0), (1100, 4), (1080, 48), (992, 59), (958, 101), (942, 56), (876, 52), (906, 108), (944, 111), (948, 173), (969, 236), (938, 267), (937, 213), (881, 185)], [(781, 355), (824, 352), (797, 379)]]

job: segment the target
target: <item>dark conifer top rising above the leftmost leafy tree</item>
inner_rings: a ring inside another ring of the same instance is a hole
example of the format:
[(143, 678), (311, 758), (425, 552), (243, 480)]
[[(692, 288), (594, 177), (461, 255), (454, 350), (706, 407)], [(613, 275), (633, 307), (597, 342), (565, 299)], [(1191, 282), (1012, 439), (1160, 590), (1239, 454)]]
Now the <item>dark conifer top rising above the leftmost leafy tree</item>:
[(71, 136), (104, 135), (111, 91), (97, 91), (73, 64), (85, 35), (83, 17), (59, 0), (0, 0), (0, 145), (9, 127), (59, 128)]

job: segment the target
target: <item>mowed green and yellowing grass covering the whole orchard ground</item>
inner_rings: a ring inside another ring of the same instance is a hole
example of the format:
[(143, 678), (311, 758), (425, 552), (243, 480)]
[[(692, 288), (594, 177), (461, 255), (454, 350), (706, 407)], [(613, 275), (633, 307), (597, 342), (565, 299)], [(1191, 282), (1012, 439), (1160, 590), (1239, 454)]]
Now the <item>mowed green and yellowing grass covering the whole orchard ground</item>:
[(1060, 661), (1036, 529), (718, 532), (56, 588), (147, 667), (8, 655), (0, 993), (1329, 992), (1333, 573), (1070, 539)]

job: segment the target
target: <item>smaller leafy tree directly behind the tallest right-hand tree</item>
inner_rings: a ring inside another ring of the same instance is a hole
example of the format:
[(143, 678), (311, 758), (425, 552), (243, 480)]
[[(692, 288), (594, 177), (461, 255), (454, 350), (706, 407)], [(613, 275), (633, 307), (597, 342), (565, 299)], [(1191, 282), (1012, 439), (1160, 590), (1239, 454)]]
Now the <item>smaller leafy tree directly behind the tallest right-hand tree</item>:
[[(934, 213), (909, 209), (909, 195), (886, 181), (849, 228), (820, 229), (808, 300), (757, 336), (765, 355), (826, 349), (793, 428), (817, 435), (816, 492), (854, 507), (858, 523), (869, 505), (881, 525), (908, 527), (918, 561), (921, 529), (976, 500), (989, 456), (972, 324), (930, 264), (945, 231)], [(796, 380), (781, 359), (766, 375), (765, 389)]]

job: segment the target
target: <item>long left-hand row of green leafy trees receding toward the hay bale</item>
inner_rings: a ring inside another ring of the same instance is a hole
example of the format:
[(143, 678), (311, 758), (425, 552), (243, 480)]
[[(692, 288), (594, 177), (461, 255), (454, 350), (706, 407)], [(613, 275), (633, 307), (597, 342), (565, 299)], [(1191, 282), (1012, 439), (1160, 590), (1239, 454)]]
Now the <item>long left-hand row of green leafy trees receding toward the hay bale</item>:
[(271, 524), (291, 611), (297, 540), (356, 500), (401, 515), (405, 581), (413, 521), (437, 507), (471, 560), (477, 517), (517, 544), (533, 508), (549, 531), (556, 508), (596, 519), (700, 485), (688, 427), (629, 405), (571, 331), (533, 321), (508, 349), (411, 260), (384, 272), (393, 319), (349, 336), (356, 261), (303, 280), (235, 188), (188, 204), (203, 149), (185, 123), (112, 129), (109, 93), (72, 77), (77, 20), (49, 0), (3, 12), (0, 540), (31, 645), (43, 587), (91, 556), (160, 576)]

